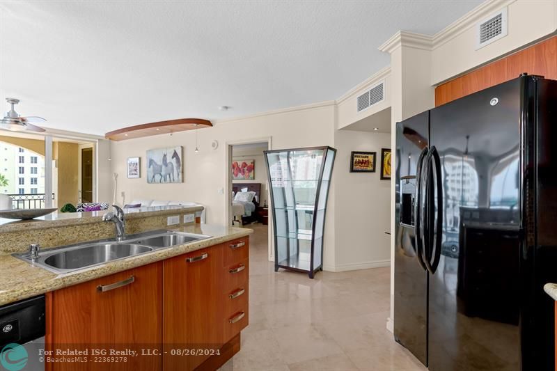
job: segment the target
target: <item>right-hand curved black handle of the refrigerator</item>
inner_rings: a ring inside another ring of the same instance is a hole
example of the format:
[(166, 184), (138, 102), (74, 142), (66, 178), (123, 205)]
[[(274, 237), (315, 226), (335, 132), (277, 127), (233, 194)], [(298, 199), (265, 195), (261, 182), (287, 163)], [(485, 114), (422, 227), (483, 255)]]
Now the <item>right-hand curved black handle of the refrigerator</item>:
[[(432, 145), (430, 151), (427, 153), (425, 164), (427, 164), (428, 173), (431, 170), (431, 167), (434, 166), (434, 171), (432, 171), (434, 179), (431, 184), (432, 187), (434, 187), (433, 194), (437, 192), (437, 217), (434, 217), (434, 226), (432, 226), (434, 228), (434, 236), (432, 241), (430, 241), (431, 246), (428, 246), (432, 248), (433, 251), (427, 251), (424, 258), (425, 267), (427, 267), (427, 270), (430, 271), (430, 274), (434, 274), (435, 271), (437, 271), (437, 267), (439, 267), (439, 260), (441, 260), (441, 239), (443, 236), (443, 182), (441, 180), (441, 159), (439, 158), (439, 152), (434, 145)], [(430, 200), (427, 207), (427, 214), (434, 215), (435, 203), (433, 200)]]

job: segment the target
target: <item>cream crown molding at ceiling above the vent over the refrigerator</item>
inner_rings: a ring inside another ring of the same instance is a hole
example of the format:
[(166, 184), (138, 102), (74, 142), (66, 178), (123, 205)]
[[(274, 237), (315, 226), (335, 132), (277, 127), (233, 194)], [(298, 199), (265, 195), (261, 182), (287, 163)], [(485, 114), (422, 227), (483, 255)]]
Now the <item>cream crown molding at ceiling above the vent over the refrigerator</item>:
[(488, 0), (473, 8), (468, 13), (449, 24), (433, 35), (433, 49), (457, 37), (471, 26), (496, 13), (501, 8), (509, 6), (517, 0)]

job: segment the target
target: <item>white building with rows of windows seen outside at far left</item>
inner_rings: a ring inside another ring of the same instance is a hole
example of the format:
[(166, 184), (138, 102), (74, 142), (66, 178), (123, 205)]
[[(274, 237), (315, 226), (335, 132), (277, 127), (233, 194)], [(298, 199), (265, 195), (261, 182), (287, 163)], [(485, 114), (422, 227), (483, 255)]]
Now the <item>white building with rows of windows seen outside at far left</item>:
[[(0, 142), (0, 192), (3, 194), (45, 193), (45, 157), (10, 143)], [(41, 169), (39, 172), (38, 169)]]

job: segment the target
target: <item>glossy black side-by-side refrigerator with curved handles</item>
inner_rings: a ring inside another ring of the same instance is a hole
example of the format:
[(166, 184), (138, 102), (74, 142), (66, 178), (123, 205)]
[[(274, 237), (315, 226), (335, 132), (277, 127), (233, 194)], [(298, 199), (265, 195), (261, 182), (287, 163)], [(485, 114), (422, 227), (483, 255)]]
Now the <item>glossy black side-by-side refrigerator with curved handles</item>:
[(404, 120), (395, 151), (395, 340), (431, 371), (553, 371), (557, 81)]

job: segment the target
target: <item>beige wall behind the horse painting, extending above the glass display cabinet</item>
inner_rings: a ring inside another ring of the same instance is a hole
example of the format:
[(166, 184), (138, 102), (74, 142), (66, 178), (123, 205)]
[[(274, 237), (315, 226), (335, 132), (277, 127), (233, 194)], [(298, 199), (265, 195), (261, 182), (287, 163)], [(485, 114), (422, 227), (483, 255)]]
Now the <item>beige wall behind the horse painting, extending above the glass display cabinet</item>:
[[(241, 143), (253, 139), (272, 139), (272, 148), (297, 148), (315, 145), (334, 146), (335, 106), (324, 102), (312, 106), (266, 113), (261, 116), (239, 118), (215, 123), (214, 127), (199, 129), (197, 154), (194, 131), (164, 134), (148, 138), (111, 142), (112, 171), (118, 173), (117, 201), (150, 198), (159, 200), (185, 200), (205, 205), (207, 223), (228, 224), (224, 194), (228, 180), (226, 163), (227, 143)], [(211, 142), (219, 141), (217, 150)], [(179, 184), (147, 184), (146, 150), (173, 145), (184, 147), (184, 179)], [(141, 178), (127, 179), (127, 157), (141, 157)], [(222, 193), (221, 193), (222, 191)], [(334, 266), (334, 195), (329, 197), (327, 226), (324, 239), (324, 263)]]

